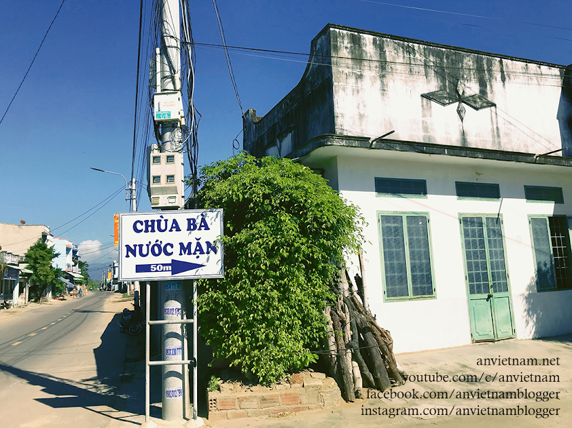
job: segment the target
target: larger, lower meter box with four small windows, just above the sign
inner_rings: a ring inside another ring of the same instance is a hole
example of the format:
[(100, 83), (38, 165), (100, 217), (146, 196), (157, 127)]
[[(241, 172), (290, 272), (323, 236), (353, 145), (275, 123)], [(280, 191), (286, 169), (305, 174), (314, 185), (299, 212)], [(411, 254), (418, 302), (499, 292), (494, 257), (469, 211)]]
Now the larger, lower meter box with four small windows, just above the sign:
[(185, 204), (183, 153), (147, 147), (147, 194), (151, 208), (179, 209)]

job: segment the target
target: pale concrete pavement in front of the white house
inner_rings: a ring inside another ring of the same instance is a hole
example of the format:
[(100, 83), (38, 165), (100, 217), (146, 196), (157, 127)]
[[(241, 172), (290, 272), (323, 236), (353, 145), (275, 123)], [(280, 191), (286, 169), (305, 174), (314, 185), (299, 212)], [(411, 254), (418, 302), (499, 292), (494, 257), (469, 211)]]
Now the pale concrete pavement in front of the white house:
[[(407, 374), (415, 375), (416, 380), (388, 391), (387, 398), (371, 398), (370, 394), (369, 399), (345, 403), (333, 411), (306, 411), (282, 418), (248, 418), (207, 422), (207, 425), (233, 428), (571, 427), (571, 355), (572, 334), (398, 354), (398, 363)], [(524, 365), (513, 365), (515, 361), (508, 359), (518, 359), (518, 363)], [(536, 359), (538, 365), (529, 365), (535, 363), (529, 359)], [(518, 398), (519, 392), (521, 397), (525, 393), (532, 394), (531, 398)], [(410, 394), (418, 398), (409, 398)], [(423, 398), (424, 394), (427, 398)], [(512, 394), (517, 398), (507, 398)], [(400, 398), (402, 395), (407, 398)], [(441, 396), (443, 398), (437, 398)], [(403, 409), (409, 415), (389, 416), (392, 411), (401, 413)], [(521, 415), (493, 415), (512, 411), (520, 411)], [(533, 415), (525, 416), (524, 411), (533, 411)], [(445, 413), (447, 416), (438, 416)]]

